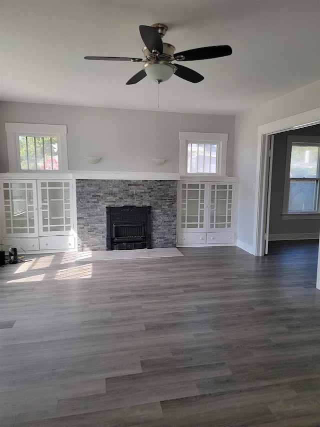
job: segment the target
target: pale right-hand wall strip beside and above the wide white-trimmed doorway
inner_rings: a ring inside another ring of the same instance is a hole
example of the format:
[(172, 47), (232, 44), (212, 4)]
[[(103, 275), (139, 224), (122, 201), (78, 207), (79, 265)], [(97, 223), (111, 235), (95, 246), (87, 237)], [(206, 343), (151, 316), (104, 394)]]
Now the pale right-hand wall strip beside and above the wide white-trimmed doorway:
[(320, 107), (320, 81), (300, 88), (235, 118), (234, 175), (239, 177), (238, 245), (254, 253), (253, 184), (257, 170), (257, 128), (265, 123), (293, 116)]

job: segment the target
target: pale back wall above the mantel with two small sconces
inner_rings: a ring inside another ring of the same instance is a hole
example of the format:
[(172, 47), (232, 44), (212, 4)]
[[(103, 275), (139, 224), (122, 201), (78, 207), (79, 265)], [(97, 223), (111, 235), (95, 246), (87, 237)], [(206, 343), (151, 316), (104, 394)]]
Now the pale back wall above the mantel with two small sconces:
[[(67, 125), (71, 171), (178, 173), (180, 131), (227, 133), (226, 174), (233, 173), (234, 116), (1, 102), (0, 173), (8, 171), (5, 122)], [(85, 156), (102, 160), (91, 165)], [(153, 165), (157, 157), (167, 160)]]

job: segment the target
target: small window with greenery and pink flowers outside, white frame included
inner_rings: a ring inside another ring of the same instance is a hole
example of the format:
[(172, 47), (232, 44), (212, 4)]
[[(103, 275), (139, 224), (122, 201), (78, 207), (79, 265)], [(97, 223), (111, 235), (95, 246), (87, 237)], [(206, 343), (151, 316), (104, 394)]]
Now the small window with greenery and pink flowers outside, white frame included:
[(67, 172), (66, 126), (5, 123), (9, 172)]

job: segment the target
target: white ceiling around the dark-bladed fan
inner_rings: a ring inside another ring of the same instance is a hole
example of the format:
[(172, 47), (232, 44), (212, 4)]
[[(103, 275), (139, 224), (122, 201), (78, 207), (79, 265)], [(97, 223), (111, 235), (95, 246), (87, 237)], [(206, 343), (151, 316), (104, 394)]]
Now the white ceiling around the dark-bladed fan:
[[(231, 56), (184, 62), (204, 76), (125, 82), (143, 58), (139, 25), (168, 26), (176, 52), (230, 45)], [(320, 0), (0, 0), (0, 99), (236, 114), (320, 79)], [(159, 89), (159, 108), (158, 108)]]

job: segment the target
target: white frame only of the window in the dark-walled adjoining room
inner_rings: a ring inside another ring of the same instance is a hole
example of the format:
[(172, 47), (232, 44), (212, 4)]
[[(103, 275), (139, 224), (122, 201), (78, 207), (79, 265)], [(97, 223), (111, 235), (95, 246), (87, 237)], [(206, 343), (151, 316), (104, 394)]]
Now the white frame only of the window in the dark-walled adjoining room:
[[(288, 212), (289, 206), (289, 188), (290, 188), (290, 162), (291, 162), (291, 150), (293, 144), (299, 145), (319, 145), (320, 137), (310, 135), (288, 135), (287, 147), (286, 147), (286, 160), (285, 160), (285, 178), (284, 178), (284, 191), (283, 191), (283, 208), (282, 208), (282, 219), (318, 219), (320, 218), (320, 184), (318, 188), (318, 202), (317, 211), (312, 212)], [(320, 149), (320, 147), (319, 147)], [(320, 168), (320, 161), (318, 167)]]

